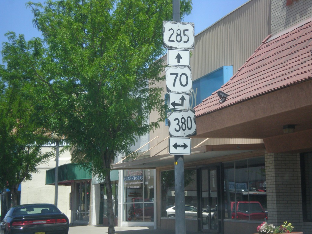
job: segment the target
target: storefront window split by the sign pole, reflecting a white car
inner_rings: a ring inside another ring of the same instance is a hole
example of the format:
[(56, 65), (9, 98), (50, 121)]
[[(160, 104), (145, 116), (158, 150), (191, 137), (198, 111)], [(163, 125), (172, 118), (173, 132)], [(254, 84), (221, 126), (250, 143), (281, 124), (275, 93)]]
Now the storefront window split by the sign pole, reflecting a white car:
[[(197, 218), (196, 170), (184, 170), (184, 191), (186, 209), (190, 209), (185, 218)], [(161, 217), (175, 217), (174, 170), (161, 172)]]

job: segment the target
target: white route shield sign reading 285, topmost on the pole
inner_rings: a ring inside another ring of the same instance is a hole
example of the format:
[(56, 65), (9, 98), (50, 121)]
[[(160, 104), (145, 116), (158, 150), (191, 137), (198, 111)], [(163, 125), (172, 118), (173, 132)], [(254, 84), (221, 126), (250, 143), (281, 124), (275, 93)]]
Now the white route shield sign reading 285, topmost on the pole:
[(163, 46), (169, 49), (194, 49), (194, 23), (163, 21)]

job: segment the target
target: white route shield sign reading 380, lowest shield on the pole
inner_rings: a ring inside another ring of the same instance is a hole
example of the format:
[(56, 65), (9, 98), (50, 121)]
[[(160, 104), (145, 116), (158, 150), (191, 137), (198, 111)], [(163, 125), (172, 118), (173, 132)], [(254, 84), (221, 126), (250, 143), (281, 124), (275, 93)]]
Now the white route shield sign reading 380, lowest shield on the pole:
[(169, 133), (175, 137), (196, 135), (195, 110), (169, 112), (167, 114)]

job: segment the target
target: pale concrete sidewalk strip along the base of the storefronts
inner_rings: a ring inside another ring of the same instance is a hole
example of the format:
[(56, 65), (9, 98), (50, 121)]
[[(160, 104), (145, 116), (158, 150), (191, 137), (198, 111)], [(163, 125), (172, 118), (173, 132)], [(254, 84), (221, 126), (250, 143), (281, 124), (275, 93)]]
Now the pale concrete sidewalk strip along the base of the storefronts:
[[(97, 226), (69, 226), (68, 234), (103, 234), (108, 233), (108, 227)], [(153, 229), (153, 227), (115, 227), (116, 234), (175, 234), (175, 231)], [(197, 234), (197, 232), (187, 232)]]

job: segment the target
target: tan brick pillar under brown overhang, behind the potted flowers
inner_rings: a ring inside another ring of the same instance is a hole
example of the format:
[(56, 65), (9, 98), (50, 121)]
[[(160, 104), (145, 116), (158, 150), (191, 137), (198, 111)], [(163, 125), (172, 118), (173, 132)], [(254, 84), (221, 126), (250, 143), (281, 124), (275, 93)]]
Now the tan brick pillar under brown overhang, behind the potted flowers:
[(299, 154), (265, 154), (268, 222), (291, 222), (294, 231), (312, 234), (312, 223), (303, 222)]

